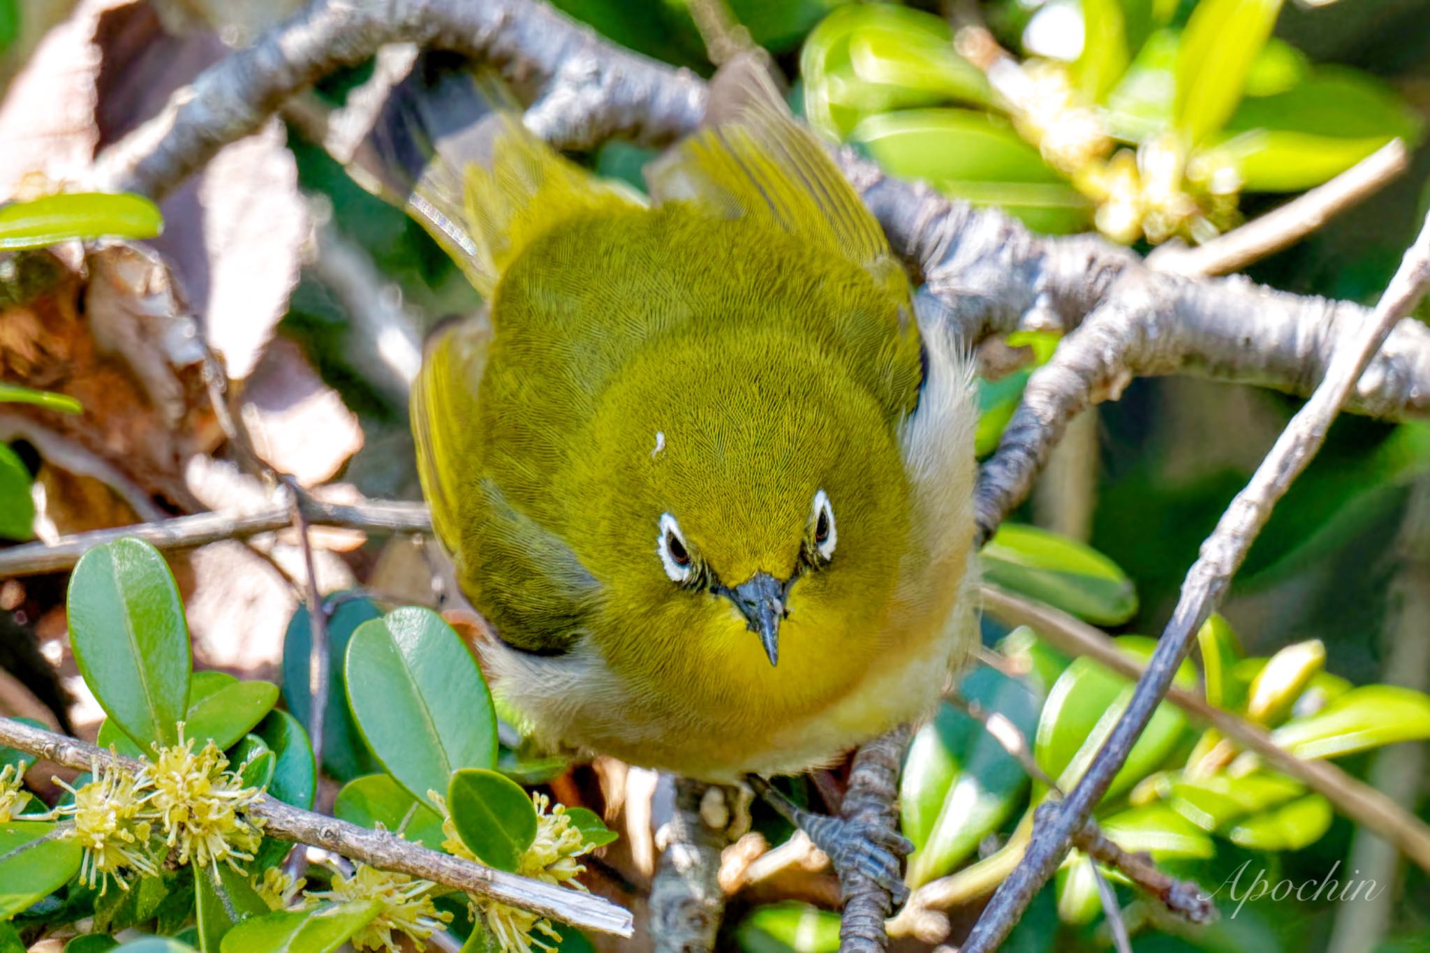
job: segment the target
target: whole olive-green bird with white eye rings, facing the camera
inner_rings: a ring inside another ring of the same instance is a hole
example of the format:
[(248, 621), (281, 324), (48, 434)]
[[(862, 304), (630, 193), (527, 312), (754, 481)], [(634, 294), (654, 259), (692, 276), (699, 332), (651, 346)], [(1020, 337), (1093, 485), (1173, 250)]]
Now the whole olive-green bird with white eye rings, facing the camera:
[[(525, 727), (771, 794), (925, 717), (968, 657), (977, 403), (814, 134), (758, 83), (712, 89), (646, 194), (509, 110), (423, 133), (408, 209), (485, 307), (430, 333), (410, 414)], [(776, 806), (897, 889), (902, 837)]]

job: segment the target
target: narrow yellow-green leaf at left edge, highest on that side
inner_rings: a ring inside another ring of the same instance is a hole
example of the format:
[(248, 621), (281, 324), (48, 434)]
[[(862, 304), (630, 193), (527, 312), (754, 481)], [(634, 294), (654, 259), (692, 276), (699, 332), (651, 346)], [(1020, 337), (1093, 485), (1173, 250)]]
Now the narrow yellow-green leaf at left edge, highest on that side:
[(0, 251), (43, 249), (73, 239), (153, 239), (159, 207), (143, 196), (72, 193), (0, 207)]

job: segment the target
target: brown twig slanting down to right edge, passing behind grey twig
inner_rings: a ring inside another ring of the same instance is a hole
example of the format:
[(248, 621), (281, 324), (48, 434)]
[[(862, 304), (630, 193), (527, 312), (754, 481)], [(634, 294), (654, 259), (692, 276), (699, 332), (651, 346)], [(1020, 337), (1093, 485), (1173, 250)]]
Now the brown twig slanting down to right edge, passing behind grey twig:
[[(1104, 632), (1064, 612), (988, 583), (982, 584), (981, 597), (985, 612), (1008, 624), (1031, 627), (1060, 652), (1088, 656), (1128, 679), (1141, 679), (1147, 672), (1145, 663), (1118, 652)], [(1381, 792), (1330, 762), (1296, 757), (1273, 744), (1271, 736), (1261, 726), (1208, 704), (1200, 694), (1173, 686), (1167, 690), (1167, 700), (1195, 720), (1217, 729), (1223, 737), (1254, 752), (1271, 769), (1323, 794), (1340, 813), (1374, 830), (1420, 867), (1430, 870), (1430, 826)]]

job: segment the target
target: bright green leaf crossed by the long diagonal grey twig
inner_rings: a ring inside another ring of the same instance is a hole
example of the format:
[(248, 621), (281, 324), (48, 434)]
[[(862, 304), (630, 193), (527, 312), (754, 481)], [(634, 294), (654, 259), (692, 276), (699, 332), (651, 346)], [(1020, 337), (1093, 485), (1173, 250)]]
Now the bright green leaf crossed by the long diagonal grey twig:
[[(1117, 639), (1118, 649), (1138, 660), (1147, 660), (1155, 644), (1155, 640), (1143, 636)], [(1174, 683), (1188, 690), (1195, 687), (1197, 674), (1190, 663), (1181, 664)], [(1058, 787), (1072, 789), (1127, 710), (1131, 696), (1133, 683), (1128, 679), (1088, 657), (1074, 659), (1067, 667), (1042, 704), (1034, 744), (1038, 766), (1058, 782)], [(1158, 704), (1105, 797), (1135, 784), (1161, 764), (1185, 727), (1187, 716), (1181, 710), (1168, 703)]]

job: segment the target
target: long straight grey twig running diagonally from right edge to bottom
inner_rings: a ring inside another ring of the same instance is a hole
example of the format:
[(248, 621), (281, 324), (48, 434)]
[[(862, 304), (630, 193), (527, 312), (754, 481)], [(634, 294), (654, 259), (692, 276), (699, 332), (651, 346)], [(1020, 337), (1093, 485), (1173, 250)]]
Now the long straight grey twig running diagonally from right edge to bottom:
[(1201, 554), (1183, 583), (1177, 609), (1163, 630), (1157, 650), (1138, 680), (1127, 710), (1077, 787), (1060, 804), (1051, 823), (1035, 830), (1018, 869), (998, 887), (978, 917), (978, 923), (974, 924), (964, 946), (965, 953), (987, 953), (995, 949), (1022, 916), (1032, 894), (1052, 876), (1068, 850), (1071, 836), (1087, 823), (1097, 802), (1127, 760), (1133, 743), (1141, 736), (1157, 704), (1171, 687), (1171, 680), (1197, 630), (1221, 604), (1231, 586), (1231, 577), (1270, 519), (1276, 502), (1320, 449), (1331, 420), (1396, 321), (1410, 313), (1427, 287), (1430, 287), (1430, 217), (1416, 243), (1406, 251), (1400, 269), (1376, 304), (1371, 320), (1336, 349), (1326, 379), (1287, 424), (1276, 446), (1251, 476), (1251, 482), (1231, 502), (1217, 522), (1217, 529), (1203, 543)]

